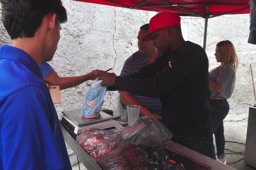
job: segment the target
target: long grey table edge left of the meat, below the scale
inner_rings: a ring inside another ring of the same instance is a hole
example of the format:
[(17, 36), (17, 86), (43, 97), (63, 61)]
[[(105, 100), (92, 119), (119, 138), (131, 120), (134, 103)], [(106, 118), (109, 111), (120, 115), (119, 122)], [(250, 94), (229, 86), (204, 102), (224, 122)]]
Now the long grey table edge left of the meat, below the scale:
[(88, 170), (102, 170), (61, 124), (64, 140)]

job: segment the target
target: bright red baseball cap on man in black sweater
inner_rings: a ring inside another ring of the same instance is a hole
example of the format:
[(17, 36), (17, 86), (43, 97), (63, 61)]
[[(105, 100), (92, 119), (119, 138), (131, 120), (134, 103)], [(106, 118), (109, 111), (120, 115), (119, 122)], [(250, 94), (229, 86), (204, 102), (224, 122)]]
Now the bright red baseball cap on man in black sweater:
[(150, 41), (153, 38), (151, 33), (167, 26), (180, 26), (180, 17), (172, 12), (160, 12), (149, 21), (149, 33), (141, 38), (143, 41)]

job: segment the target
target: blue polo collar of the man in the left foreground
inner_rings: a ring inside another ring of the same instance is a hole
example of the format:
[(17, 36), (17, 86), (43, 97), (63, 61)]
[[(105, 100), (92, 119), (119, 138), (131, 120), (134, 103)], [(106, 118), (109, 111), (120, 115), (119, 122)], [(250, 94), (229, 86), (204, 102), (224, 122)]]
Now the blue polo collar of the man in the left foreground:
[(39, 69), (37, 63), (22, 49), (4, 45), (0, 48), (0, 59), (17, 61), (26, 66), (26, 68), (38, 76), (38, 78), (43, 80), (41, 70)]

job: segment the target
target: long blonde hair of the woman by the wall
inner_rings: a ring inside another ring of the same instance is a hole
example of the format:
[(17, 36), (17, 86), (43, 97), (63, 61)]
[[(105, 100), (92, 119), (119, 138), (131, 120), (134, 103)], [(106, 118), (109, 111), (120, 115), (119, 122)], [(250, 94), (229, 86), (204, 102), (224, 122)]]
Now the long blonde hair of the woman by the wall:
[(221, 65), (216, 67), (215, 69), (218, 69), (225, 64), (233, 64), (235, 69), (237, 69), (239, 62), (233, 43), (231, 43), (229, 40), (224, 40), (217, 43), (216, 46), (221, 49), (221, 52), (223, 53), (223, 60), (221, 62)]

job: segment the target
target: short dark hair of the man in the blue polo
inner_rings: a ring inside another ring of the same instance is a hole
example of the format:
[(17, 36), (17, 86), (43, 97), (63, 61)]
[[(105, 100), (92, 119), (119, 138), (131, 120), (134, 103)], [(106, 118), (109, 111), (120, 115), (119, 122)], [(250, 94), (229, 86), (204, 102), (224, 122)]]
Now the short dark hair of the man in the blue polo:
[(61, 0), (0, 0), (2, 22), (11, 39), (34, 37), (47, 14), (56, 14), (58, 22), (67, 21)]

